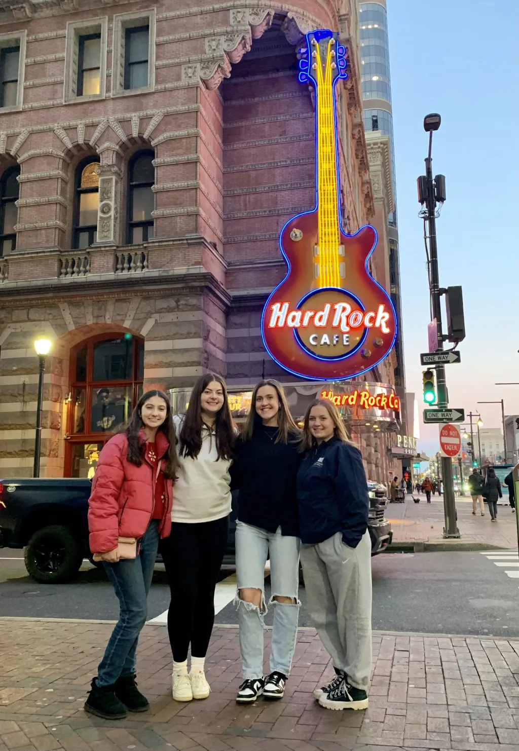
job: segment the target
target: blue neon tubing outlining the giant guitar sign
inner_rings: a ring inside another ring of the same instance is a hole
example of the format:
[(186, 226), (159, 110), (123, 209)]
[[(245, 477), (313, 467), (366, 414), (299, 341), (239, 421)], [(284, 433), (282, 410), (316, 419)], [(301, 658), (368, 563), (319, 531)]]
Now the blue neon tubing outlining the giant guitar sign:
[[(327, 37), (329, 35), (333, 36), (333, 32), (331, 32), (330, 29), (316, 29), (314, 32), (308, 32), (306, 34), (306, 53), (309, 56), (309, 60), (311, 60), (311, 54), (310, 54), (310, 52), (312, 50), (312, 42), (310, 41), (310, 35), (313, 35), (315, 37), (315, 39), (319, 40), (319, 39), (325, 38), (325, 37)], [(337, 43), (337, 40), (336, 40), (336, 43)], [(339, 45), (337, 47), (339, 47)], [(346, 50), (346, 52), (347, 52), (347, 50)], [(337, 62), (338, 62), (338, 59), (337, 59)], [(286, 365), (283, 365), (283, 363), (279, 362), (279, 360), (277, 360), (277, 358), (273, 356), (272, 352), (270, 351), (270, 349), (267, 346), (267, 342), (265, 341), (265, 336), (264, 336), (264, 318), (265, 318), (265, 312), (267, 311), (267, 308), (268, 308), (268, 304), (270, 303), (270, 300), (272, 299), (273, 295), (276, 294), (276, 291), (279, 289), (279, 287), (281, 287), (286, 282), (286, 280), (288, 279), (288, 276), (290, 276), (290, 272), (291, 272), (291, 264), (290, 264), (290, 261), (288, 260), (288, 256), (285, 253), (285, 249), (283, 249), (282, 240), (281, 240), (283, 232), (285, 231), (285, 227), (288, 224), (290, 224), (290, 222), (293, 222), (294, 219), (298, 219), (300, 216), (306, 216), (306, 214), (312, 214), (312, 213), (314, 213), (318, 209), (318, 201), (319, 201), (319, 198), (318, 198), (318, 179), (319, 179), (319, 175), (318, 175), (318, 169), (317, 169), (317, 167), (318, 167), (318, 142), (317, 142), (318, 90), (317, 90), (317, 84), (315, 82), (315, 79), (314, 79), (314, 77), (312, 77), (312, 74), (310, 74), (309, 68), (310, 68), (310, 65), (308, 66), (307, 71), (301, 71), (300, 74), (298, 75), (298, 79), (300, 80), (300, 83), (307, 83), (309, 80), (312, 81), (314, 89), (315, 89), (315, 155), (316, 155), (316, 158), (315, 158), (315, 167), (316, 167), (316, 169), (315, 169), (315, 207), (311, 211), (303, 211), (302, 213), (297, 214), (296, 216), (292, 216), (291, 219), (288, 219), (288, 222), (285, 222), (285, 225), (283, 225), (282, 230), (279, 233), (279, 249), (281, 250), (281, 254), (282, 254), (283, 258), (285, 258), (285, 263), (287, 264), (287, 269), (288, 270), (287, 270), (287, 273), (285, 275), (285, 278), (282, 279), (282, 281), (279, 282), (279, 285), (277, 285), (273, 289), (273, 291), (270, 293), (269, 297), (267, 298), (267, 302), (264, 304), (263, 312), (261, 313), (261, 339), (263, 340), (263, 345), (264, 345), (265, 350), (268, 352), (268, 354), (270, 354), (270, 357), (272, 357), (272, 359), (274, 360), (274, 362), (276, 364), (278, 364), (279, 367), (281, 367), (283, 370), (286, 370), (286, 372), (289, 372), (292, 375), (297, 375), (298, 378), (308, 379), (310, 381), (318, 381), (318, 382), (321, 382), (321, 383), (327, 383), (327, 382), (334, 382), (334, 381), (348, 381), (349, 379), (358, 378), (359, 375), (364, 375), (364, 373), (369, 372), (370, 370), (373, 370), (373, 368), (375, 368), (377, 365), (379, 365), (379, 363), (382, 363), (382, 361), (385, 360), (386, 357), (388, 357), (389, 353), (394, 348), (395, 342), (397, 341), (398, 318), (397, 318), (397, 311), (396, 311), (396, 309), (394, 307), (394, 304), (393, 304), (393, 300), (391, 300), (391, 295), (388, 294), (388, 292), (382, 287), (382, 285), (379, 285), (379, 282), (377, 282), (376, 279), (373, 278), (373, 276), (370, 274), (370, 271), (368, 270), (368, 267), (367, 267), (368, 261), (370, 260), (371, 256), (373, 255), (373, 251), (375, 250), (376, 243), (377, 243), (377, 241), (379, 239), (379, 235), (377, 234), (376, 229), (373, 227), (373, 225), (364, 225), (361, 228), (359, 228), (357, 232), (354, 232), (353, 234), (348, 234), (347, 232), (345, 232), (344, 228), (342, 227), (341, 204), (340, 204), (340, 201), (337, 201), (337, 209), (338, 209), (338, 213), (339, 213), (339, 228), (340, 228), (341, 234), (343, 234), (345, 237), (355, 237), (355, 235), (357, 235), (359, 232), (361, 232), (362, 230), (364, 230), (364, 228), (366, 228), (366, 227), (370, 227), (373, 230), (373, 232), (375, 233), (375, 241), (373, 243), (373, 246), (372, 246), (370, 252), (366, 256), (366, 262), (364, 264), (364, 268), (365, 268), (368, 276), (370, 276), (370, 278), (372, 279), (372, 281), (377, 285), (377, 287), (388, 298), (389, 305), (391, 306), (391, 310), (393, 311), (393, 317), (394, 317), (394, 337), (393, 337), (393, 341), (391, 342), (391, 347), (388, 349), (388, 353), (385, 354), (384, 357), (381, 357), (379, 360), (377, 360), (376, 363), (372, 363), (372, 364), (370, 364), (369, 367), (364, 368), (364, 370), (360, 370), (358, 372), (352, 373), (352, 375), (342, 375), (342, 376), (340, 376), (340, 375), (334, 375), (333, 378), (320, 378), (320, 377), (316, 377), (316, 376), (312, 376), (312, 375), (303, 375), (303, 373), (297, 372), (297, 371), (292, 370), (291, 368), (287, 367)], [(336, 75), (335, 80), (333, 81), (333, 86), (332, 86), (332, 98), (333, 98), (333, 124), (334, 124), (334, 127), (335, 127), (335, 133), (336, 133), (336, 139), (335, 139), (336, 178), (337, 178), (337, 188), (340, 190), (339, 137), (338, 137), (338, 133), (337, 133), (337, 111), (336, 111), (336, 88), (335, 88), (335, 83), (336, 83), (336, 80), (338, 78), (348, 78), (348, 74), (345, 72), (345, 68), (340, 68), (339, 65), (337, 65), (336, 71), (337, 71), (337, 75)], [(304, 77), (304, 80), (301, 80), (303, 77)], [(341, 292), (345, 291), (345, 290), (342, 289), (342, 287), (336, 287), (336, 288), (331, 288), (331, 289), (337, 289), (337, 290), (339, 290)], [(311, 292), (314, 292), (314, 291), (315, 290), (311, 290)], [(349, 293), (349, 294), (352, 294), (352, 293)], [(355, 297), (355, 295), (352, 295), (352, 297)], [(296, 334), (296, 330), (294, 329), (294, 336), (295, 336), (295, 334)], [(297, 340), (297, 337), (296, 337), (296, 340)], [(297, 343), (299, 345), (299, 342), (297, 342)], [(301, 348), (303, 349), (303, 351), (305, 352), (305, 354), (310, 354), (310, 353), (308, 353), (306, 351), (306, 348), (303, 348), (303, 347), (301, 347)], [(355, 351), (357, 351), (357, 348), (355, 349)], [(352, 351), (347, 356), (342, 357), (341, 359), (342, 360), (348, 359), (348, 357), (351, 357), (352, 354), (355, 353), (355, 351)], [(312, 355), (312, 357), (315, 357), (315, 355)], [(315, 357), (315, 359), (324, 360), (325, 362), (331, 362), (331, 363), (334, 363), (334, 362), (337, 361), (337, 360), (335, 360), (333, 358), (330, 358), (330, 357), (326, 357), (326, 358)]]

